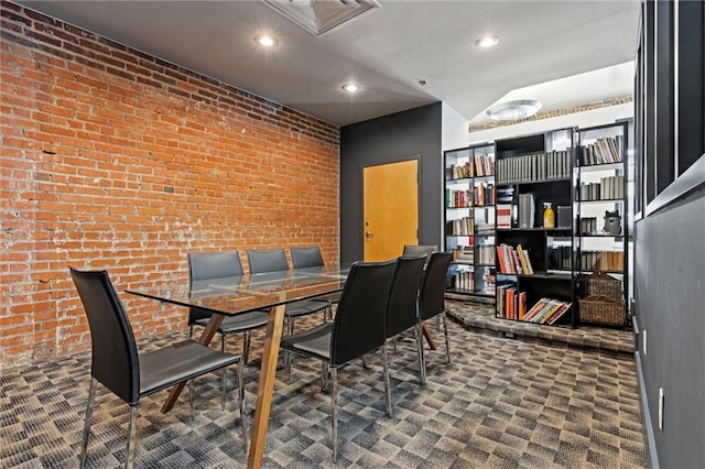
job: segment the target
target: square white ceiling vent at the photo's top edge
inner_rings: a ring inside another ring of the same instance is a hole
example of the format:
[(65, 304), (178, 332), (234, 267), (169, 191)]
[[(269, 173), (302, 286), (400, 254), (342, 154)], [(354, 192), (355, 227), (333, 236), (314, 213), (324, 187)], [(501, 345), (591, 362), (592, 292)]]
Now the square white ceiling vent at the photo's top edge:
[(264, 3), (318, 36), (368, 11), (376, 0), (262, 0)]

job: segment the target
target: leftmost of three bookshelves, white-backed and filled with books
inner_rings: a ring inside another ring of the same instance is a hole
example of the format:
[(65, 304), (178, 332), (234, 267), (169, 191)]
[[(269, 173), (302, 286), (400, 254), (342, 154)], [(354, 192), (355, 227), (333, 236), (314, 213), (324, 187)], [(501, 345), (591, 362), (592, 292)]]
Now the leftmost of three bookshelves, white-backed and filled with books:
[(448, 292), (495, 297), (495, 145), (444, 152), (444, 242), (453, 251)]

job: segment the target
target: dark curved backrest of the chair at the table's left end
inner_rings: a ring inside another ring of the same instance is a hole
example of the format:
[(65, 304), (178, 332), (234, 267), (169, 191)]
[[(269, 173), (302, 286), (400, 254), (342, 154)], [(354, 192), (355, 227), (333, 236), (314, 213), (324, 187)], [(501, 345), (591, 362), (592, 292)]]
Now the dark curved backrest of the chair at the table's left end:
[(106, 271), (70, 269), (90, 327), (90, 374), (128, 404), (140, 393), (140, 363), (132, 327)]

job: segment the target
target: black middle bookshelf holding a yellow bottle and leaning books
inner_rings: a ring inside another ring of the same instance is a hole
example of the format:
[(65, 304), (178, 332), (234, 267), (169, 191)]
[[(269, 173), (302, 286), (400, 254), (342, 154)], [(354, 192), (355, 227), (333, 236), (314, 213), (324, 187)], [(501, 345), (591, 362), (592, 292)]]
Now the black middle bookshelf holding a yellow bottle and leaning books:
[[(576, 326), (574, 129), (498, 140), (496, 316)], [(554, 210), (544, 226), (545, 204)]]

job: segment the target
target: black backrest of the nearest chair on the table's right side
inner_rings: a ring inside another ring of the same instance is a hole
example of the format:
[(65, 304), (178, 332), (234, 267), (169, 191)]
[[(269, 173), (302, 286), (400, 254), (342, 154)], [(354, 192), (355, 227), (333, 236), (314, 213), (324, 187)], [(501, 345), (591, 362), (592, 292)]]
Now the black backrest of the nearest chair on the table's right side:
[(381, 347), (397, 260), (356, 262), (350, 268), (333, 321), (330, 364), (339, 366)]

